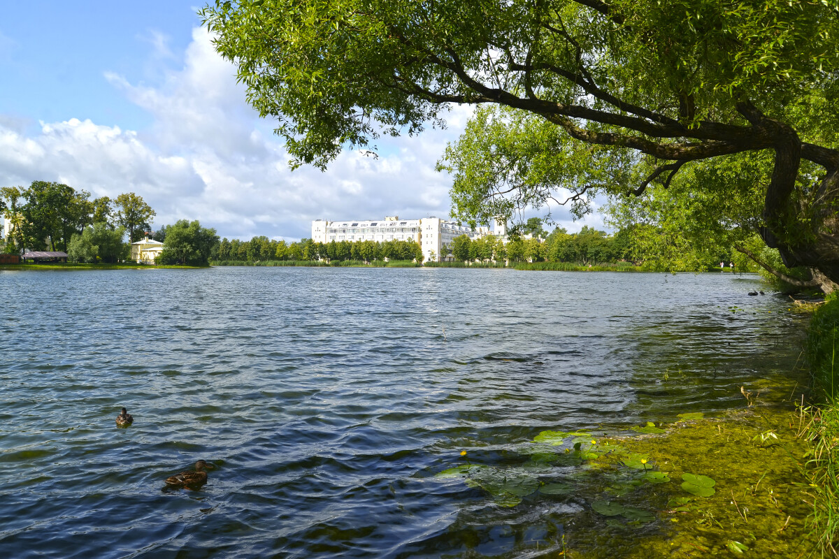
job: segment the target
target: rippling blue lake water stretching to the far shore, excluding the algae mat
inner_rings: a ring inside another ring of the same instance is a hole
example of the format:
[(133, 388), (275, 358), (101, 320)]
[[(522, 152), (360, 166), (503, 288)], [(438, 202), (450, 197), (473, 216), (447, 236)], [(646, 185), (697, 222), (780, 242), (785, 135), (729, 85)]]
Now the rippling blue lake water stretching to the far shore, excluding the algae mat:
[[(748, 297), (756, 281), (0, 272), (0, 556), (556, 552), (586, 501), (499, 507), (434, 475), (464, 449), (522, 463), (546, 429), (742, 407), (738, 386), (800, 351), (799, 319)], [(161, 491), (199, 458), (216, 464), (201, 491)]]

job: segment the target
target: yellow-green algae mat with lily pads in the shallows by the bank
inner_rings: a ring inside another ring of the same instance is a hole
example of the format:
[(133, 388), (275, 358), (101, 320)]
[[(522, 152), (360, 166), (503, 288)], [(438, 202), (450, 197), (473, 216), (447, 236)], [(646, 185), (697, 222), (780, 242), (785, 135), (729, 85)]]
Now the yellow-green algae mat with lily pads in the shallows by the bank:
[[(791, 386), (780, 392), (798, 397)], [(555, 520), (565, 526), (563, 557), (805, 555), (812, 548), (799, 470), (806, 445), (796, 437), (792, 406), (767, 400), (764, 394), (753, 406), (744, 401), (744, 409), (712, 418), (681, 414), (659, 424), (664, 433), (543, 431), (515, 448), (518, 463), (508, 457), (440, 474), (482, 489), (502, 510), (545, 510), (548, 502), (576, 510)], [(753, 442), (767, 431), (777, 444)], [(733, 551), (732, 542), (746, 549)]]

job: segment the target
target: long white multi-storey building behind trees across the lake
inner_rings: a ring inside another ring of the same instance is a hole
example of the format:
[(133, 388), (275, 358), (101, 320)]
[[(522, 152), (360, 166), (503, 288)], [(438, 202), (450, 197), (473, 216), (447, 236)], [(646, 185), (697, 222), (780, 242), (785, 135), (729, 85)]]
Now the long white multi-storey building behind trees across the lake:
[[(498, 225), (497, 231), (506, 234), (506, 225)], [(422, 247), (425, 261), (440, 261), (443, 246), (451, 246), (457, 236), (466, 235), (471, 239), (490, 235), (488, 227), (470, 227), (458, 225), (454, 221), (441, 220), (437, 217), (425, 217), (420, 220), (399, 220), (398, 215), (388, 216), (383, 220), (314, 220), (312, 221), (312, 241), (324, 244), (331, 241), (416, 241)]]

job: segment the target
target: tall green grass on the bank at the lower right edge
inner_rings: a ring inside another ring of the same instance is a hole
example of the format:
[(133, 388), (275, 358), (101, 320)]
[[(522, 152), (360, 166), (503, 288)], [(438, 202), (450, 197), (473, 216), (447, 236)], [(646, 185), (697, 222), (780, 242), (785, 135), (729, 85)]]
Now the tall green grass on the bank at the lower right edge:
[(806, 472), (810, 478), (813, 511), (811, 537), (823, 556), (839, 557), (839, 380), (836, 379), (836, 341), (839, 339), (839, 298), (828, 296), (813, 314), (807, 338), (807, 357), (816, 405), (803, 410), (809, 419), (805, 437), (810, 443)]

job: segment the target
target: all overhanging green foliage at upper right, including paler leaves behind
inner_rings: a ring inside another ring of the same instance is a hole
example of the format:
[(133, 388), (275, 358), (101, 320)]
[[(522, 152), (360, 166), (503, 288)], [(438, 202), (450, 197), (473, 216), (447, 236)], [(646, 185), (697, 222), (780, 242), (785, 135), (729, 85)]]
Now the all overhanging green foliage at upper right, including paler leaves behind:
[[(602, 194), (618, 228), (637, 225), (630, 245), (651, 269), (701, 270), (762, 231), (787, 261), (826, 261), (839, 279), (839, 258), (824, 256), (837, 235), (826, 173), (839, 157), (837, 14), (839, 0), (201, 10), (293, 165), (375, 151), (381, 134), (414, 134), (443, 124), (446, 106), (474, 104), (439, 163), (462, 220), (550, 215), (555, 203), (581, 215)], [(513, 261), (545, 257), (508, 248)]]

